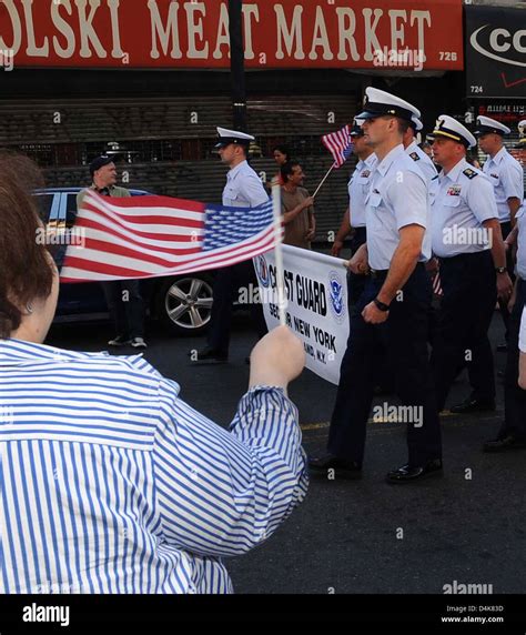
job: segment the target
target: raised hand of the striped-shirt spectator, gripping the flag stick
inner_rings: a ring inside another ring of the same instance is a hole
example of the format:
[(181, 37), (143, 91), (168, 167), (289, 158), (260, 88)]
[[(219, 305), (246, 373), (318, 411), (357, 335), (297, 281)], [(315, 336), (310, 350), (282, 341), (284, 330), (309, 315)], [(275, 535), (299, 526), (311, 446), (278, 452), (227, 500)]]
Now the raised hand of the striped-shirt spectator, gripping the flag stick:
[(281, 386), (296, 379), (305, 366), (303, 343), (287, 326), (277, 326), (252, 350), (249, 385)]

